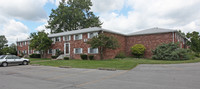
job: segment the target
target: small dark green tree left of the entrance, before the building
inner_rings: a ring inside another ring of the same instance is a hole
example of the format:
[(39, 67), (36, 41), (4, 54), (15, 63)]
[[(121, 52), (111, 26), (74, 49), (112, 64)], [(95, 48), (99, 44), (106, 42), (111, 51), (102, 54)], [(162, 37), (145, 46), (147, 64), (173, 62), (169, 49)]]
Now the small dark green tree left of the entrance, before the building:
[(30, 41), (30, 48), (39, 51), (42, 57), (46, 57), (45, 54), (50, 48), (52, 40), (48, 38), (48, 34), (44, 30), (34, 34), (32, 35), (33, 39)]

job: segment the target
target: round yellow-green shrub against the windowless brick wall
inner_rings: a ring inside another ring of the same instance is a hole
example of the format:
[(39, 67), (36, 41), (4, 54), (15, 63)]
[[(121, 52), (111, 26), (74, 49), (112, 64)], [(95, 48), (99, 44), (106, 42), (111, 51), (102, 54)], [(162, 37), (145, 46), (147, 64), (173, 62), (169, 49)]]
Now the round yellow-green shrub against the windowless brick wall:
[(142, 44), (135, 44), (131, 47), (132, 54), (137, 58), (143, 57), (145, 50), (146, 48)]

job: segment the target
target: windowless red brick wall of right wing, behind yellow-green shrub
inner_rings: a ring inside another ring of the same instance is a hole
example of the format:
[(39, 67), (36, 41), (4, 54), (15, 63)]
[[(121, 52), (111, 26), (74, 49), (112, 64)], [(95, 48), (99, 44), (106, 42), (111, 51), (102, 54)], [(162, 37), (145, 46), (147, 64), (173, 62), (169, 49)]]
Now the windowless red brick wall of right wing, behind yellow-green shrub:
[(149, 35), (138, 35), (129, 36), (126, 38), (126, 54), (127, 56), (133, 56), (131, 54), (131, 47), (135, 44), (143, 44), (146, 47), (145, 57), (151, 58), (152, 49), (155, 49), (158, 45), (162, 43), (173, 42), (172, 33), (162, 33), (162, 34), (149, 34)]

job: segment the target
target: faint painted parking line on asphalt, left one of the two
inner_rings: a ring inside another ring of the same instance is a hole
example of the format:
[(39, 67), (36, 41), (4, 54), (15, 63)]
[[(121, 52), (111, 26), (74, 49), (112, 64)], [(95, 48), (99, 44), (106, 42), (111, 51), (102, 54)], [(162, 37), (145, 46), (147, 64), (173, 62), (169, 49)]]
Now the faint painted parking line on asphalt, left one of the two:
[(96, 70), (88, 70), (88, 71), (83, 71), (83, 72), (79, 72), (79, 73), (75, 73), (75, 74), (65, 74), (65, 75), (61, 75), (61, 76), (59, 75), (59, 76), (47, 78), (46, 80), (60, 79), (60, 78), (63, 78), (63, 77), (75, 76), (75, 75), (84, 74), (84, 73), (89, 73), (89, 72), (93, 72), (93, 71), (96, 71)]

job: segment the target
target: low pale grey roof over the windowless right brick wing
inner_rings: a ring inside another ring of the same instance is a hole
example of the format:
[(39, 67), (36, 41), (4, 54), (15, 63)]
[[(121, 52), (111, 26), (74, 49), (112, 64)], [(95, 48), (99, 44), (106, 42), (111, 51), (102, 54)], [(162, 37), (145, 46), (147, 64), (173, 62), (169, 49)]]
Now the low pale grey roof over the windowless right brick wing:
[(127, 35), (133, 36), (133, 35), (158, 34), (158, 33), (168, 33), (168, 32), (177, 32), (177, 30), (155, 27), (155, 28), (150, 28), (150, 29), (130, 33), (130, 34), (127, 34)]

